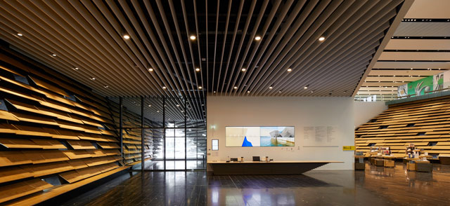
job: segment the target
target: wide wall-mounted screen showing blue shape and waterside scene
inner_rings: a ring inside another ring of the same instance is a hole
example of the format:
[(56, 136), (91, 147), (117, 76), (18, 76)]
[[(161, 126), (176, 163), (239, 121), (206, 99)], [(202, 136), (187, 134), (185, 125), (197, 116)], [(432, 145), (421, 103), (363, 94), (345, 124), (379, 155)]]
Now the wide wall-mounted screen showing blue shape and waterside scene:
[(295, 146), (294, 127), (226, 127), (225, 146)]

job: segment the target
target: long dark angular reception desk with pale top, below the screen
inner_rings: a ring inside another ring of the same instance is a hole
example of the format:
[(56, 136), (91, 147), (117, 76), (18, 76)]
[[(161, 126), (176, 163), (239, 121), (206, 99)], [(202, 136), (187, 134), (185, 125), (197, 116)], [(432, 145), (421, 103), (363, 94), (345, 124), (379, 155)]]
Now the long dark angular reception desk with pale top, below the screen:
[(340, 161), (208, 162), (209, 174), (302, 174)]

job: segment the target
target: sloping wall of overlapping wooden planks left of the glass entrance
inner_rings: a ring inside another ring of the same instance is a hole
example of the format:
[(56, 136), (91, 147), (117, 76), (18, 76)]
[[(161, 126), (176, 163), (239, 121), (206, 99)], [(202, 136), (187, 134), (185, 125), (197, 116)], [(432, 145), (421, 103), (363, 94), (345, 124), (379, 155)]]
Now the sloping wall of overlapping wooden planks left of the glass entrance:
[(120, 167), (107, 99), (1, 48), (0, 203)]

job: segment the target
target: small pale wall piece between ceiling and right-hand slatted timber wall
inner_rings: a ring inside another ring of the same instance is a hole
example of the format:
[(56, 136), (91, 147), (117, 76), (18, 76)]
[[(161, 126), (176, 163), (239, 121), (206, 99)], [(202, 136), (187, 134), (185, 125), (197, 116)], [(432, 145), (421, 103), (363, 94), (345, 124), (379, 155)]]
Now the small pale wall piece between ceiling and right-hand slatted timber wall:
[(385, 102), (354, 102), (354, 127), (367, 123), (386, 109)]

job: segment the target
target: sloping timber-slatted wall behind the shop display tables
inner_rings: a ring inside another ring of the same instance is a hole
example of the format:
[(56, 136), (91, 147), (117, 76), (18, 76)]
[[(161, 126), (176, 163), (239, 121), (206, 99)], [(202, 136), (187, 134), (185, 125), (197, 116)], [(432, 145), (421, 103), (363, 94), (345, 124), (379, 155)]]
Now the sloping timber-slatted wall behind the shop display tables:
[(392, 156), (404, 158), (410, 143), (432, 156), (450, 154), (450, 96), (391, 104), (355, 130), (356, 151), (390, 146)]

